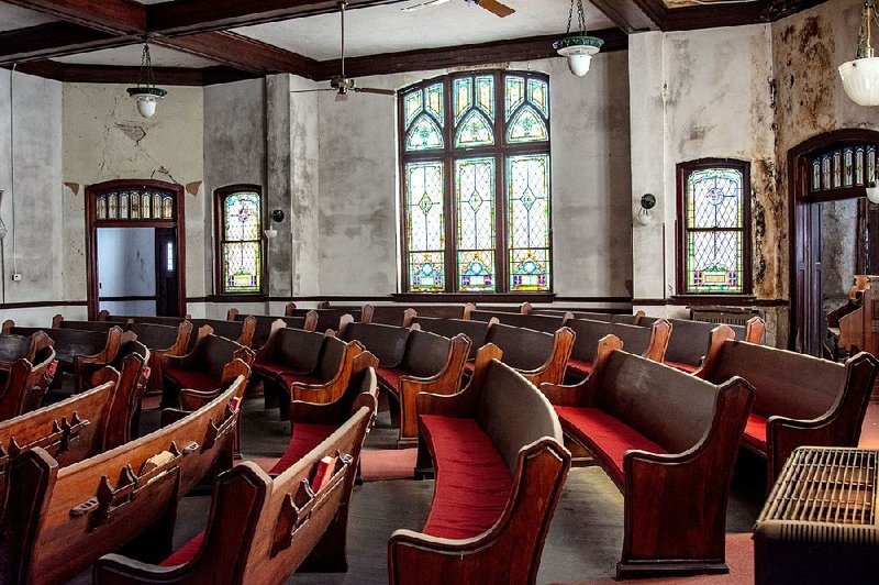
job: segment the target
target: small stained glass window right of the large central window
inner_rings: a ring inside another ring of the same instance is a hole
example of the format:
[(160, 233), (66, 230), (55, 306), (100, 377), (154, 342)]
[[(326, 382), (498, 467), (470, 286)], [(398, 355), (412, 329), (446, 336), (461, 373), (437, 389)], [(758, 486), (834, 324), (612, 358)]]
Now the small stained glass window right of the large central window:
[(683, 180), (683, 292), (744, 294), (747, 165), (697, 165)]

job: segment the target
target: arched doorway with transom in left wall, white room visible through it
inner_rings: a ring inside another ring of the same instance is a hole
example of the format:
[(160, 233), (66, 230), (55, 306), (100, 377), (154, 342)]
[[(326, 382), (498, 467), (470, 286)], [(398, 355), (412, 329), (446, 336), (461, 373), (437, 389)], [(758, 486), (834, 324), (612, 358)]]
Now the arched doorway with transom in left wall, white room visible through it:
[(101, 309), (186, 314), (183, 218), (180, 185), (122, 179), (86, 188), (89, 319)]

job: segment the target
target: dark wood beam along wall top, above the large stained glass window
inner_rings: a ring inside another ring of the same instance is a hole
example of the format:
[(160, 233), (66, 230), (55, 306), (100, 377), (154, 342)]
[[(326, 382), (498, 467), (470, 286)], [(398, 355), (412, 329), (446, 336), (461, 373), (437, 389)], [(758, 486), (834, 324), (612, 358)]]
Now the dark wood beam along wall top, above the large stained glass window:
[[(602, 53), (624, 51), (628, 46), (626, 35), (619, 29), (592, 31), (590, 34), (604, 40), (604, 46), (601, 48)], [(557, 57), (558, 54), (553, 48), (553, 43), (564, 35), (564, 33), (559, 33), (447, 48), (427, 48), (352, 57), (345, 59), (345, 73), (352, 77), (365, 77)], [(313, 79), (331, 79), (338, 75), (340, 68), (341, 63), (338, 59), (320, 62), (314, 70)]]

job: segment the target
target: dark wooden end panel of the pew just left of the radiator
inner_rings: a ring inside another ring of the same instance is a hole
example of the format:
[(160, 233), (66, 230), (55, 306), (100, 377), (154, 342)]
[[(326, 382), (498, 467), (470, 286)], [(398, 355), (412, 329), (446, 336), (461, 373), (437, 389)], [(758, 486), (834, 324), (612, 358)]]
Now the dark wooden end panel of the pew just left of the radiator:
[(625, 453), (617, 577), (728, 572), (726, 505), (738, 439), (753, 402), (754, 388), (733, 378), (719, 388), (714, 419), (691, 449)]

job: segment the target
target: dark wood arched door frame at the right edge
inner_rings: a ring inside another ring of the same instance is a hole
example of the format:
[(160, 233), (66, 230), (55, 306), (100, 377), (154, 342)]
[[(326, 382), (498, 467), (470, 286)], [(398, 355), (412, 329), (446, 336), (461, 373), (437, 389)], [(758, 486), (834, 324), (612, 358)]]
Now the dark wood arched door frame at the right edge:
[[(819, 152), (836, 146), (860, 144), (864, 142), (879, 143), (879, 132), (867, 129), (843, 129), (825, 132), (801, 142), (788, 151), (788, 196), (790, 225), (790, 342), (791, 350), (805, 352), (812, 342), (806, 338), (810, 334), (808, 312), (811, 305), (811, 276), (810, 263), (814, 257), (810, 231), (813, 230), (813, 218), (816, 212), (813, 203), (866, 197), (865, 187), (846, 187), (835, 189), (834, 192), (811, 194), (809, 190), (811, 179), (812, 156)], [(820, 242), (817, 243), (820, 245)], [(820, 351), (820, 347), (817, 349)], [(820, 353), (819, 353), (820, 355)]]

